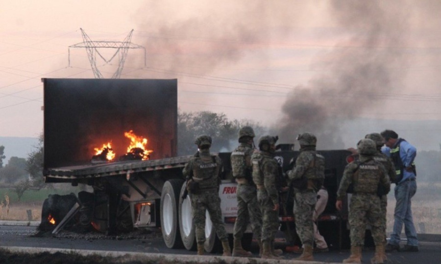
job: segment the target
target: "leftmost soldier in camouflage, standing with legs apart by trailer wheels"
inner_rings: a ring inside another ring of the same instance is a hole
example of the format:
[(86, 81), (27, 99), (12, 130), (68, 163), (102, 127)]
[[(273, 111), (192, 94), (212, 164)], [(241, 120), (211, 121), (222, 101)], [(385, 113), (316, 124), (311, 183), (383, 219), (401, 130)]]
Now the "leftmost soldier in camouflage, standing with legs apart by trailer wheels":
[(228, 234), (222, 222), (221, 198), (219, 197), (221, 158), (210, 154), (211, 137), (200, 135), (195, 144), (199, 151), (185, 164), (182, 174), (187, 178), (187, 190), (193, 210), (193, 221), (196, 227), (197, 255), (203, 255), (205, 242), (205, 211), (222, 242), (222, 256), (231, 256)]

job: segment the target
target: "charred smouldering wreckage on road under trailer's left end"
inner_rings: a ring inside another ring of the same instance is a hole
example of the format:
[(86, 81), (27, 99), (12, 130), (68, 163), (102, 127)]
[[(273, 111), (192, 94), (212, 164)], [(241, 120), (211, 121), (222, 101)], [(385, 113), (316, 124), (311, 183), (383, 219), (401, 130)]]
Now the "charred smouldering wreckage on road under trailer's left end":
[[(105, 191), (105, 189), (108, 189)], [(116, 179), (107, 179), (94, 192), (80, 191), (78, 197), (70, 195), (49, 195), (37, 227), (40, 235), (61, 230), (76, 233), (98, 232), (118, 234), (133, 229), (130, 205), (122, 199), (129, 196), (126, 186)]]

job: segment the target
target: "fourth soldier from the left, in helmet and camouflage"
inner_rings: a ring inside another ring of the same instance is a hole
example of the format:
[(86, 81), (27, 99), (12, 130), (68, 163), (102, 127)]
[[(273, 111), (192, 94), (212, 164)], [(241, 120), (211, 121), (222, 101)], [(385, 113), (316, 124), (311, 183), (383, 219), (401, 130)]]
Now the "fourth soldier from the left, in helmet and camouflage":
[(297, 140), (300, 154), (293, 170), (287, 172), (294, 188), (295, 230), (303, 244), (303, 253), (296, 260), (313, 261), (314, 221), (317, 192), (324, 180), (324, 157), (316, 151), (317, 138), (312, 133), (302, 133)]

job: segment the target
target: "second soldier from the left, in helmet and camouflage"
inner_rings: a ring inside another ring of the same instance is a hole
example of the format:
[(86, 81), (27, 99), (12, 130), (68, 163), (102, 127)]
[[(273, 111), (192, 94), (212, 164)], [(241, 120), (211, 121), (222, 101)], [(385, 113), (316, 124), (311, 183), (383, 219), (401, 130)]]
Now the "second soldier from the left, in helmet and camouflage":
[(254, 238), (260, 241), (262, 234), (262, 212), (257, 202), (257, 189), (252, 178), (251, 155), (253, 154), (254, 130), (245, 126), (239, 130), (239, 147), (231, 153), (231, 168), (237, 182), (237, 218), (233, 229), (233, 257), (249, 257), (251, 252), (242, 247), (242, 237), (248, 222)]

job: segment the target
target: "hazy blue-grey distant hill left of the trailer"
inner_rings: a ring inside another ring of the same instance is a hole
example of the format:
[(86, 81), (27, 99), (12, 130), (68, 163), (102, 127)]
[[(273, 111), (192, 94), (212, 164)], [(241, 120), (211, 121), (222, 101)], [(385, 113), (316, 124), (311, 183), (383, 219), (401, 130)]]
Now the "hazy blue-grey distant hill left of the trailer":
[(3, 165), (11, 157), (27, 158), (27, 154), (35, 149), (38, 144), (37, 137), (0, 137), (0, 146), (4, 146)]

